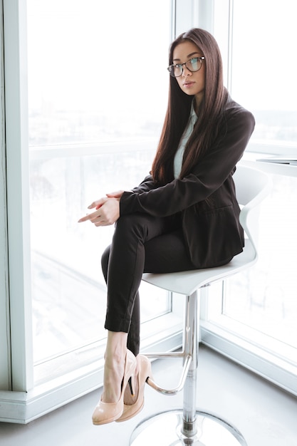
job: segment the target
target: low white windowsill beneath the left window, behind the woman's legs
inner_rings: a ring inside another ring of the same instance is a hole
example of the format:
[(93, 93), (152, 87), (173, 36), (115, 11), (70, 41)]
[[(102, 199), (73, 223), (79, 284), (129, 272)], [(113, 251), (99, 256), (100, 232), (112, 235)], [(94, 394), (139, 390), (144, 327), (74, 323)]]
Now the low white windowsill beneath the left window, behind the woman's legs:
[[(142, 351), (172, 351), (182, 345), (181, 318), (174, 313), (162, 316), (162, 324), (157, 324), (154, 319), (144, 323), (141, 331)], [(69, 373), (62, 372), (28, 392), (0, 391), (0, 422), (26, 424), (100, 388), (103, 383), (103, 343), (97, 348), (101, 352), (98, 361)]]

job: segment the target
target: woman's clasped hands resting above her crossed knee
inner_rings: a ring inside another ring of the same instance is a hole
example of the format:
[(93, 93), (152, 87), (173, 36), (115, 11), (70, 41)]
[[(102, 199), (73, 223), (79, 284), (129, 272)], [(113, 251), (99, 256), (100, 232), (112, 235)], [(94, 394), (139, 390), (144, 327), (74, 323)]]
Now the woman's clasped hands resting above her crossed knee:
[(90, 204), (88, 209), (94, 209), (92, 214), (86, 214), (78, 220), (78, 223), (87, 222), (90, 220), (95, 226), (109, 226), (114, 224), (120, 217), (120, 197), (123, 195), (123, 190), (117, 192), (110, 192), (106, 197), (100, 198)]

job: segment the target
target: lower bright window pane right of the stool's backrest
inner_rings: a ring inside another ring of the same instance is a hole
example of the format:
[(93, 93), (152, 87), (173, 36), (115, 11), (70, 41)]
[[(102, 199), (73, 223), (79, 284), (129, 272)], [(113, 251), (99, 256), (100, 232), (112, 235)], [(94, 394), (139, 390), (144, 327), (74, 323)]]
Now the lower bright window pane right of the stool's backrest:
[(297, 358), (296, 191), (296, 177), (273, 175), (261, 209), (259, 261), (227, 282), (224, 314), (296, 348)]

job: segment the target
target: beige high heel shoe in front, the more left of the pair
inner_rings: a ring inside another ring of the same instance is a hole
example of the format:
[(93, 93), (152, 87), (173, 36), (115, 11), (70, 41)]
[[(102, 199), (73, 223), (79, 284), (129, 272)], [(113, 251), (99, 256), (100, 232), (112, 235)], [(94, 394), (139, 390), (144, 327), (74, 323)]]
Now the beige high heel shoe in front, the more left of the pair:
[[(117, 403), (104, 403), (104, 401), (101, 400), (101, 397), (92, 416), (94, 425), (105, 425), (108, 422), (113, 422), (118, 420), (118, 418), (120, 418), (120, 416), (123, 414), (125, 388), (130, 378), (133, 378), (135, 374), (136, 365), (137, 363), (135, 356), (130, 350), (127, 350), (120, 399)], [(130, 380), (130, 382), (133, 382), (133, 380)], [(133, 395), (132, 387), (130, 387), (130, 390), (131, 395)]]

